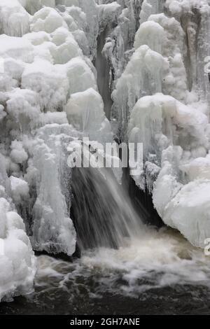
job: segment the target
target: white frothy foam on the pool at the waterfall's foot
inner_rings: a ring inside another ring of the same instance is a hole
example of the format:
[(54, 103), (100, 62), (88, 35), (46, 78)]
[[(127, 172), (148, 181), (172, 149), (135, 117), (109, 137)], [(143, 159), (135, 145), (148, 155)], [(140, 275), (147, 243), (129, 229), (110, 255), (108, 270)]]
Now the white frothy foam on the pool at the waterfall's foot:
[(36, 287), (42, 292), (63, 289), (69, 299), (84, 294), (100, 298), (104, 293), (140, 297), (154, 288), (210, 288), (209, 266), (210, 258), (178, 232), (150, 229), (127, 246), (85, 251), (73, 263), (39, 257)]

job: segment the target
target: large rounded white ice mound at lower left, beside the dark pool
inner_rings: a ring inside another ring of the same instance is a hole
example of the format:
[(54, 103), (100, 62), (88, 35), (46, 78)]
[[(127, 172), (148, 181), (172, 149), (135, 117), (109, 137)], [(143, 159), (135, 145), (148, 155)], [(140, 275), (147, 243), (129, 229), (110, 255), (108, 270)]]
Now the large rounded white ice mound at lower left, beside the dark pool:
[(0, 301), (33, 290), (36, 261), (22, 218), (0, 198)]

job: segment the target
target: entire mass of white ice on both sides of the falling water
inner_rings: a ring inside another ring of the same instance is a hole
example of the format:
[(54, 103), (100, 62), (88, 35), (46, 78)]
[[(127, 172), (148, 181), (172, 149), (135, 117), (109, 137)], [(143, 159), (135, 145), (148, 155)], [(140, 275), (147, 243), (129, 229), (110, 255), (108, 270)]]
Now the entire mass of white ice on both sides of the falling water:
[(66, 159), (83, 137), (144, 143), (132, 179), (167, 225), (204, 246), (209, 4), (0, 1), (0, 300), (31, 291), (32, 248), (75, 251)]

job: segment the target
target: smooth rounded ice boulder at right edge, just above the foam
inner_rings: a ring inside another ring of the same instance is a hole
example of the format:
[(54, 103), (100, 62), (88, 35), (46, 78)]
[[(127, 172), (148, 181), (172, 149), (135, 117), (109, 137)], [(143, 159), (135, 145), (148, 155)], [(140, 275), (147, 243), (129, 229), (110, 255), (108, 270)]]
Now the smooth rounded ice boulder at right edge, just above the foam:
[(163, 221), (179, 230), (193, 245), (204, 248), (210, 237), (210, 181), (183, 186), (165, 208)]

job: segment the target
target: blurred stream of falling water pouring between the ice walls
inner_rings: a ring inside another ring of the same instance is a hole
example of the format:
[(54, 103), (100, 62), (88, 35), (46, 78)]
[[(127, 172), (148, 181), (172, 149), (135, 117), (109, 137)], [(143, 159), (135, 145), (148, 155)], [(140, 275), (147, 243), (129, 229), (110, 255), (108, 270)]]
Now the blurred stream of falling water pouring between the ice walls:
[(111, 169), (73, 169), (71, 188), (71, 218), (81, 250), (119, 248), (126, 238), (141, 239), (141, 219)]

